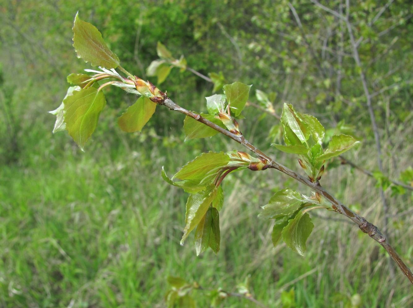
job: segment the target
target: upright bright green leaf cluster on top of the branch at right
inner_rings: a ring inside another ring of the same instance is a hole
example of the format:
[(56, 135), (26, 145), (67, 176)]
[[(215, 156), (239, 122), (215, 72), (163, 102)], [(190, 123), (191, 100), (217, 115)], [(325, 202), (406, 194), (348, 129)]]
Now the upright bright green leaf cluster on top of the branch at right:
[(318, 181), (324, 172), (325, 160), (341, 155), (356, 146), (353, 137), (333, 135), (323, 152), (325, 129), (312, 115), (297, 112), (290, 104), (284, 104), (281, 114), (285, 145), (273, 144), (278, 150), (298, 155), (298, 161), (311, 181)]

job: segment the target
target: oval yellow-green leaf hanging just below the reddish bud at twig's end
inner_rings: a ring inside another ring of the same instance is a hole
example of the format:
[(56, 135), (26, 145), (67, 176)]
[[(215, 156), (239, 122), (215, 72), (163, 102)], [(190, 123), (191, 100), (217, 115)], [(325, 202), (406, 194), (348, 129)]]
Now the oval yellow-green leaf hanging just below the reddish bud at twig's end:
[(128, 133), (142, 131), (142, 128), (154, 114), (156, 105), (149, 98), (141, 96), (118, 118), (120, 129)]

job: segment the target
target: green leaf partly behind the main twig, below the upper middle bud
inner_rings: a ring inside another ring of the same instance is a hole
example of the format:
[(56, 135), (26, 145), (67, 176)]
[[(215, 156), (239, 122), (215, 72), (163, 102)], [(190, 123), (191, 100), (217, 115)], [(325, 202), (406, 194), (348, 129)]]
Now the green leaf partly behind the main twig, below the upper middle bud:
[[(214, 117), (213, 115), (206, 113), (201, 113), (200, 115), (201, 117), (204, 117), (212, 123), (225, 128), (225, 126), (222, 124), (222, 121), (220, 119), (216, 119), (216, 117)], [(183, 121), (183, 129), (185, 131), (185, 141), (195, 138), (211, 137), (218, 134), (218, 131), (216, 131), (215, 129), (188, 116), (186, 116), (185, 120)]]

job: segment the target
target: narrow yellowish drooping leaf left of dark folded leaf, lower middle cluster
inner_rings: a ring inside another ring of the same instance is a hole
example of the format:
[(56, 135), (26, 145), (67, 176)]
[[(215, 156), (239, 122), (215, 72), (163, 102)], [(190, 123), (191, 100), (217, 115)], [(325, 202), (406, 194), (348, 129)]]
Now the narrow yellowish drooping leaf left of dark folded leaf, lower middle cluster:
[(199, 224), (202, 217), (204, 217), (212, 200), (214, 200), (216, 195), (217, 187), (214, 184), (207, 186), (206, 189), (200, 191), (199, 193), (191, 194), (188, 197), (186, 203), (185, 212), (185, 223), (184, 233), (180, 244), (187, 238), (188, 234)]

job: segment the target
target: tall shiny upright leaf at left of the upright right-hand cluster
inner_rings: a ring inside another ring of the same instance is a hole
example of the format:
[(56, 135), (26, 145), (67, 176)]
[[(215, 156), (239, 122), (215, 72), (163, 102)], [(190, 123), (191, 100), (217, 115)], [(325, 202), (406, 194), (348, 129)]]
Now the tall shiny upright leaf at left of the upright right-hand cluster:
[(284, 127), (284, 141), (287, 146), (296, 146), (306, 143), (309, 138), (307, 125), (299, 117), (290, 104), (284, 103), (281, 114), (281, 123)]

